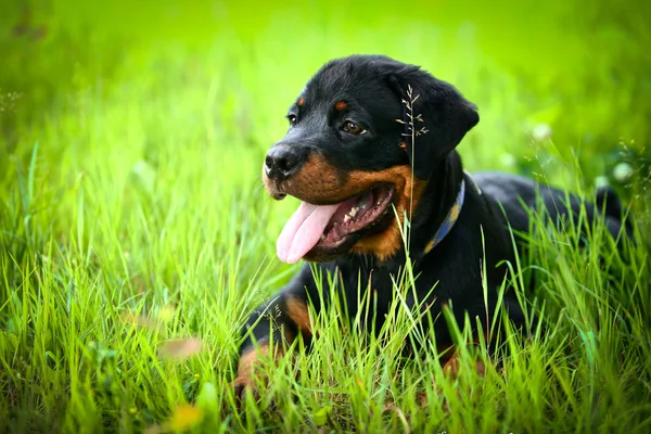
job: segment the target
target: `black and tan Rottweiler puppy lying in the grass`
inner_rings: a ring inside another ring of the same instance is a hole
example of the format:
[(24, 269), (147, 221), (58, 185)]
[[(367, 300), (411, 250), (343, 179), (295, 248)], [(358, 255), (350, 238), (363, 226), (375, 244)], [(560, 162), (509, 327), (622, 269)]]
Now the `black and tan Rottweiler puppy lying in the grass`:
[[(357, 288), (372, 288), (376, 330), (392, 301), (392, 275), (406, 260), (399, 230), (405, 215), (411, 224), (409, 255), (419, 275), (419, 302), (429, 306), (432, 318), (451, 302), (458, 321), (468, 312), (485, 323), (506, 276), (498, 264), (514, 264), (509, 225), (514, 231), (529, 229), (521, 201), (534, 207), (538, 194), (551, 219), (573, 216), (582, 206), (572, 197), (567, 208), (564, 192), (523, 177), (485, 174), (473, 179), (464, 174), (455, 148), (478, 122), (475, 106), (447, 82), (385, 56), (355, 55), (326, 64), (288, 118), (288, 133), (271, 146), (263, 167), (272, 197), (291, 194), (303, 201), (278, 239), (278, 256), (336, 270), (347, 289), (339, 296), (350, 316), (359, 308)], [(589, 219), (605, 218), (617, 237), (618, 203), (607, 206), (603, 215), (591, 204), (586, 208)], [(271, 350), (271, 337), (275, 343), (298, 335), (312, 339), (308, 299), (317, 310), (326, 307), (320, 299), (329, 303), (328, 295), (320, 297), (317, 291), (306, 264), (251, 317), (235, 380), (240, 391), (251, 385), (259, 354)], [(508, 305), (510, 319), (522, 324), (515, 296), (507, 292), (501, 303)], [(273, 323), (260, 318), (265, 312)], [(446, 322), (434, 327), (436, 342), (450, 343)]]

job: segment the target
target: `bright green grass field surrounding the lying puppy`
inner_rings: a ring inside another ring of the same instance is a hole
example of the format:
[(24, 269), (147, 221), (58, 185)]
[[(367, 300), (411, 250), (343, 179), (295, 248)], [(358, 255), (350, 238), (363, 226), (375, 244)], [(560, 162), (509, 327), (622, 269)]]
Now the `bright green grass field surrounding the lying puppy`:
[[(651, 432), (647, 2), (111, 4), (0, 5), (0, 432)], [(547, 333), (508, 333), (483, 379), (400, 360), (398, 295), (379, 339), (315, 318), (312, 352), (237, 411), (237, 331), (297, 270), (275, 252), (297, 203), (260, 164), (309, 76), (355, 52), (478, 105), (470, 170), (613, 184), (636, 243), (532, 234), (509, 280), (536, 270)]]

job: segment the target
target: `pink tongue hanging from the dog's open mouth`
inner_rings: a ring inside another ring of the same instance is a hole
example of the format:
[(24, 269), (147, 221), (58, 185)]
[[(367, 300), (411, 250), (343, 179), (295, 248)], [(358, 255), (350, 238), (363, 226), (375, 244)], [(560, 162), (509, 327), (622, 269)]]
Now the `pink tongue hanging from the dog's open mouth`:
[(301, 206), (290, 217), (276, 242), (280, 260), (294, 264), (305, 256), (319, 242), (326, 226), (340, 205), (318, 206), (301, 202)]

